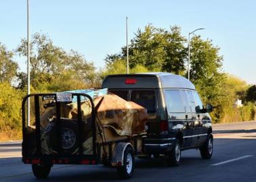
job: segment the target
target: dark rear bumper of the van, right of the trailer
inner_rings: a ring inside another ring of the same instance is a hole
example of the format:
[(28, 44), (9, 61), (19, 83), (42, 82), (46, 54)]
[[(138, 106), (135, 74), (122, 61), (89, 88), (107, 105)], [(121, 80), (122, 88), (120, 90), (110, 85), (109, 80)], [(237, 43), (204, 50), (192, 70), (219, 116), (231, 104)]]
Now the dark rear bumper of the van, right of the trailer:
[(175, 138), (158, 138), (158, 139), (145, 139), (145, 152), (148, 154), (165, 153), (172, 150), (175, 143)]

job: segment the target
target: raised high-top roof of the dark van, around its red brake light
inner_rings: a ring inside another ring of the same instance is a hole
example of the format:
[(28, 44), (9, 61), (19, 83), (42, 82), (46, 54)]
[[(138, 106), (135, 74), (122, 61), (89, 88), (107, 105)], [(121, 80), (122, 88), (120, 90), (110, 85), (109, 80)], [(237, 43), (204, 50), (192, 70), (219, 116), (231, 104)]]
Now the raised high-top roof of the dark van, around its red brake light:
[[(135, 85), (125, 84), (127, 78), (138, 80), (138, 82)], [(188, 79), (166, 72), (108, 75), (102, 82), (102, 88), (188, 88), (195, 90), (194, 84)]]

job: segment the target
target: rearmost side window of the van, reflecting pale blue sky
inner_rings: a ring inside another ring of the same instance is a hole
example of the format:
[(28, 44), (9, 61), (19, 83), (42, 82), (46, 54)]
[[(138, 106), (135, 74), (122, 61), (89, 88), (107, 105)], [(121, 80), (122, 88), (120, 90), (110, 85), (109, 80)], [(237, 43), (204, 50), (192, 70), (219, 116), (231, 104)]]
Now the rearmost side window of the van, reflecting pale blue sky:
[(185, 113), (182, 95), (179, 90), (165, 90), (168, 113)]

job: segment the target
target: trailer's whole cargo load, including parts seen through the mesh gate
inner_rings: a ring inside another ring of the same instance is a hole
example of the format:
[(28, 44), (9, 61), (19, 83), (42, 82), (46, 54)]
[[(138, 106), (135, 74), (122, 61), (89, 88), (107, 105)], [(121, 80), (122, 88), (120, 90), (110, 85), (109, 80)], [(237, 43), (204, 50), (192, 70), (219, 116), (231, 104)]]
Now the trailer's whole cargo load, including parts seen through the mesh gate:
[[(81, 92), (74, 90), (75, 93)], [(70, 91), (70, 92), (74, 92)], [(124, 140), (125, 138), (133, 137), (134, 135), (144, 135), (146, 119), (148, 117), (147, 110), (144, 107), (129, 102), (116, 96), (115, 94), (108, 94), (106, 90), (101, 92), (87, 92), (93, 98), (95, 107), (95, 128), (96, 128), (96, 142), (104, 143), (117, 140)], [(85, 91), (84, 91), (85, 92)], [(57, 95), (58, 97), (58, 95)], [(41, 121), (41, 142), (43, 145), (43, 153), (56, 153), (56, 107), (50, 107), (54, 102), (47, 103), (47, 109), (40, 115)], [(46, 104), (46, 105), (47, 105)], [(45, 106), (44, 106), (45, 107)], [(72, 102), (67, 102), (60, 107), (62, 117), (62, 125), (75, 131), (79, 131), (77, 124), (78, 117), (77, 98), (72, 98)], [(81, 100), (81, 118), (83, 122), (82, 138), (85, 144), (84, 150), (86, 153), (91, 151), (87, 144), (91, 143), (92, 136), (92, 117), (91, 104), (87, 98)], [(68, 129), (68, 130), (69, 130)], [(64, 131), (68, 133), (69, 131)], [(69, 132), (70, 142), (74, 142), (75, 135)], [(71, 137), (70, 137), (71, 136)], [(75, 142), (74, 142), (75, 143)], [(67, 150), (68, 151), (68, 150)], [(77, 151), (72, 150), (72, 153)]]

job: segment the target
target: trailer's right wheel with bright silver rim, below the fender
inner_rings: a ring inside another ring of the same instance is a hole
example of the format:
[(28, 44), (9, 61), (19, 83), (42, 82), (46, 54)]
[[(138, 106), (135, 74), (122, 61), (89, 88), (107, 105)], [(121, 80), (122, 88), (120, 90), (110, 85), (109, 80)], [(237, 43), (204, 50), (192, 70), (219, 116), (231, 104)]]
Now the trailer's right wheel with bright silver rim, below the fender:
[(133, 175), (134, 171), (134, 152), (133, 149), (128, 146), (123, 156), (123, 166), (117, 167), (117, 173), (121, 179), (129, 179)]

